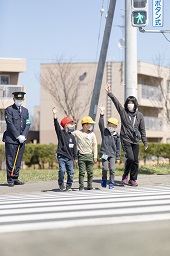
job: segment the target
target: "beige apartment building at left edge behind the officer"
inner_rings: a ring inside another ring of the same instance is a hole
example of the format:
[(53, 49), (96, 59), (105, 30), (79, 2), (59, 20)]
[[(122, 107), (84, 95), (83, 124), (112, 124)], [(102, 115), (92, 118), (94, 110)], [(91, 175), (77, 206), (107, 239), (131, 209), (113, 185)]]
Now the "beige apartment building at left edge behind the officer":
[[(23, 59), (0, 59), (0, 143), (6, 130), (4, 109), (13, 104), (14, 91), (25, 91), (19, 82), (19, 75), (26, 71), (26, 61)], [(26, 102), (24, 101), (24, 106)]]

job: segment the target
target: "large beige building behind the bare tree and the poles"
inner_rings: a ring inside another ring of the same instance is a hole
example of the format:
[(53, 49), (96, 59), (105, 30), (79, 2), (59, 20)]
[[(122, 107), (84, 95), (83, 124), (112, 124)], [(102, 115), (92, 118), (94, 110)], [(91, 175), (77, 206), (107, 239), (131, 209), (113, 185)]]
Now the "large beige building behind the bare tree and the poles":
[[(57, 64), (43, 64), (41, 65), (41, 75), (46, 74), (46, 69), (50, 66), (54, 67)], [(72, 64), (73, 68), (79, 70), (78, 76), (87, 72), (87, 77), (84, 79), (82, 85), (80, 86), (81, 101), (84, 101), (89, 91), (93, 90), (97, 63), (74, 63)], [(119, 101), (124, 105), (124, 80), (123, 80), (123, 66), (121, 62), (112, 62), (106, 63), (105, 71), (103, 75), (102, 88), (99, 98), (99, 106), (103, 104), (106, 107), (105, 114), (105, 123), (107, 118), (113, 116), (120, 121), (120, 117), (114, 107), (112, 102), (109, 102), (110, 98), (107, 97), (107, 94), (104, 89), (106, 81), (108, 81), (112, 86), (113, 94), (119, 99)], [(77, 77), (78, 79), (78, 77)], [(147, 130), (147, 137), (150, 141), (161, 141), (166, 143), (170, 139), (170, 127), (166, 124), (164, 119), (165, 107), (163, 100), (154, 99), (152, 97), (155, 91), (158, 91), (160, 81), (163, 85), (164, 92), (166, 91), (167, 80), (169, 79), (169, 69), (166, 67), (158, 67), (153, 64), (138, 63), (138, 102), (139, 109), (146, 116), (147, 124), (149, 128)], [(146, 89), (150, 92), (151, 97), (143, 97), (143, 90)], [(153, 90), (153, 93), (152, 93)], [(41, 84), (40, 87), (40, 143), (57, 143), (56, 134), (53, 126), (53, 116), (52, 108), (55, 106), (53, 97), (50, 95), (47, 90)], [(89, 105), (87, 110), (80, 116), (88, 115)], [(58, 108), (58, 120), (60, 121), (65, 114), (62, 112), (62, 109)], [(96, 116), (96, 124), (94, 127), (94, 132), (97, 136), (98, 143), (101, 142), (100, 131), (98, 128), (98, 119), (99, 119), (99, 109)], [(153, 123), (153, 125), (152, 125)], [(161, 125), (160, 125), (161, 124)], [(158, 127), (158, 130), (155, 130), (155, 125)], [(80, 122), (78, 123), (78, 129), (81, 129)], [(118, 131), (120, 130), (120, 125)]]

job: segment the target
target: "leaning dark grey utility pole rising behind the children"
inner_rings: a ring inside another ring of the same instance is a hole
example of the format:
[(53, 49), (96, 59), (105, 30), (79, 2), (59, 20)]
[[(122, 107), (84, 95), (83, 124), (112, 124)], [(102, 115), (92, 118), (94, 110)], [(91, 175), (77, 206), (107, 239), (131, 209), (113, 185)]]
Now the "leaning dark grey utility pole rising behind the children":
[(107, 49), (108, 49), (109, 39), (111, 34), (112, 22), (114, 17), (115, 5), (116, 5), (116, 0), (110, 0), (108, 15), (106, 19), (106, 26), (105, 26), (105, 31), (104, 31), (104, 36), (103, 36), (103, 41), (101, 46), (101, 52), (100, 52), (100, 57), (99, 57), (99, 62), (97, 67), (96, 79), (94, 83), (93, 95), (92, 95), (91, 104), (90, 104), (90, 111), (89, 111), (89, 116), (91, 116), (93, 120), (96, 119), (96, 114), (97, 114), (97, 107), (99, 102), (99, 96), (100, 96), (103, 72), (104, 72), (104, 67), (106, 62)]

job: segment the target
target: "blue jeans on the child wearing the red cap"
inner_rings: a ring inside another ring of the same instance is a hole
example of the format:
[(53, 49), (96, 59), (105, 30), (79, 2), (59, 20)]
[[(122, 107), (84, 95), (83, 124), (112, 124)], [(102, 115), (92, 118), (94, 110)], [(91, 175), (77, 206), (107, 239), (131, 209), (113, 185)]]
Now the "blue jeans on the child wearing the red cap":
[(64, 184), (64, 175), (67, 172), (67, 185), (71, 186), (73, 183), (73, 160), (69, 159), (66, 156), (57, 154), (58, 164), (59, 164), (59, 172), (58, 172), (58, 184)]

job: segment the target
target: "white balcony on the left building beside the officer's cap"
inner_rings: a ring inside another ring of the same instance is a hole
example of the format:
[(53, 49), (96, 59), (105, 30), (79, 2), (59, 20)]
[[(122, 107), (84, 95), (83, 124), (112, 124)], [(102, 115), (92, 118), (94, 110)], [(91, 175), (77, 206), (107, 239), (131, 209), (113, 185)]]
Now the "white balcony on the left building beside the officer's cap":
[(11, 104), (13, 92), (24, 91), (24, 86), (21, 85), (0, 85), (0, 108), (4, 109)]

